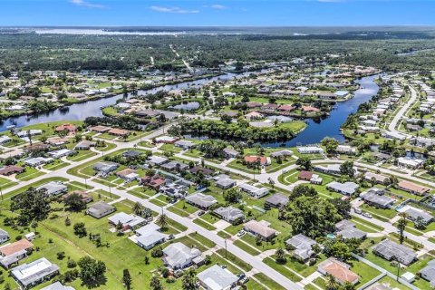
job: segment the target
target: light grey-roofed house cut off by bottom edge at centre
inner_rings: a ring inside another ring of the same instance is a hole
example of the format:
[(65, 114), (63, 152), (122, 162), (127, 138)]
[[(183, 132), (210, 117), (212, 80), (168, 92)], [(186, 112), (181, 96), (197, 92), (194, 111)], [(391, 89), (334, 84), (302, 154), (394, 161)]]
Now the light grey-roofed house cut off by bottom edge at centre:
[(218, 265), (210, 266), (197, 275), (199, 284), (206, 290), (228, 290), (237, 284), (237, 275)]

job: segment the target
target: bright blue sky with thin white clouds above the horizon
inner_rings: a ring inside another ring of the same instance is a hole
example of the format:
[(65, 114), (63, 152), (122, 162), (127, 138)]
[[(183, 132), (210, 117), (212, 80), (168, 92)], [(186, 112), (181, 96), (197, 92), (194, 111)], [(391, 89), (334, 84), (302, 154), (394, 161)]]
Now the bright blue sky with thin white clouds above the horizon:
[(433, 25), (435, 0), (0, 0), (0, 25)]

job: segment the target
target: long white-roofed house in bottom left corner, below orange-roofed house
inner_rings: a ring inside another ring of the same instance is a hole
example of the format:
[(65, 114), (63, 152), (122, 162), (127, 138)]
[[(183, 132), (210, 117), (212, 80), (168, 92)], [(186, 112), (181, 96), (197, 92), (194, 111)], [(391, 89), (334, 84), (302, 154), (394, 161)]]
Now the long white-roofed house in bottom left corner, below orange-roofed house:
[(59, 274), (59, 266), (42, 257), (34, 262), (15, 266), (11, 275), (24, 288), (43, 283), (46, 279)]

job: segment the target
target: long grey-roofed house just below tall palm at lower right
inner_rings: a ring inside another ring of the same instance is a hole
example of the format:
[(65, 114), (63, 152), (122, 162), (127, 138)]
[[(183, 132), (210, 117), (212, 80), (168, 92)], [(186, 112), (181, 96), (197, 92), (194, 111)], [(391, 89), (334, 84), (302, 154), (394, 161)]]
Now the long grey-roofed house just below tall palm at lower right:
[(417, 259), (417, 255), (411, 248), (397, 244), (389, 239), (384, 239), (381, 243), (373, 247), (373, 253), (382, 256), (388, 261), (395, 260), (406, 266)]

